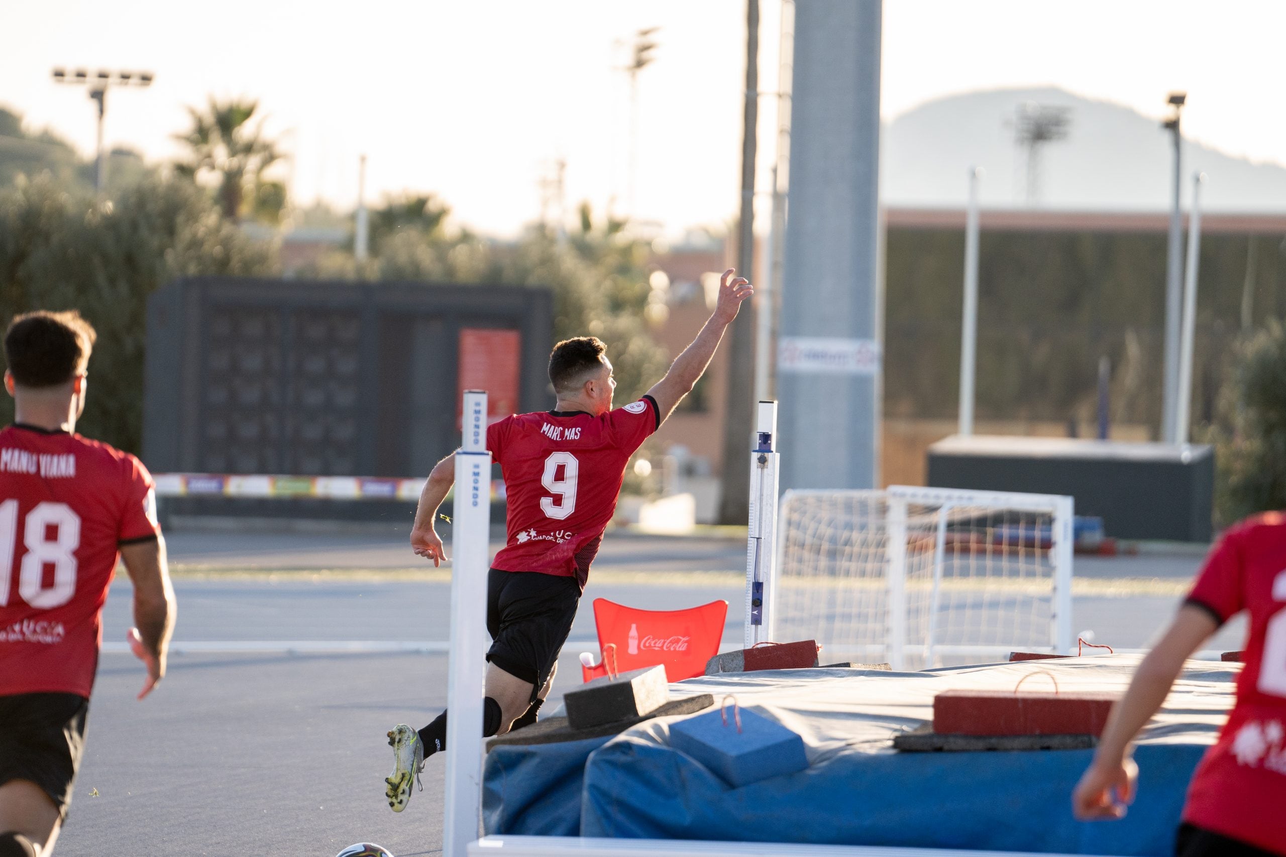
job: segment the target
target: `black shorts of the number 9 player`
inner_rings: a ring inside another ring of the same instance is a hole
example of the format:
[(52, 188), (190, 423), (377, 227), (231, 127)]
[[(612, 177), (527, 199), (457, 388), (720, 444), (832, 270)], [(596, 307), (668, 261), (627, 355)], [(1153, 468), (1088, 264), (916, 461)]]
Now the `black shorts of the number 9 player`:
[(530, 681), (535, 699), (571, 633), (577, 604), (575, 577), (493, 568), (486, 586), (486, 630), (491, 635), (486, 659)]

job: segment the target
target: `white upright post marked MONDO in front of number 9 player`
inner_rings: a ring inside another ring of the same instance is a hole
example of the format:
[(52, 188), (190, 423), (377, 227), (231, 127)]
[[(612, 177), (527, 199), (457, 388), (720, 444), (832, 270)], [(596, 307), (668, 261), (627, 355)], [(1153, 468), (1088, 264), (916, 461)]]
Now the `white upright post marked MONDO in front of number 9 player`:
[(482, 677), (486, 659), (491, 454), (486, 392), (464, 391), (464, 439), (455, 454), (451, 520), (451, 654), (446, 675), (446, 803), (442, 854), (466, 857), (482, 811)]

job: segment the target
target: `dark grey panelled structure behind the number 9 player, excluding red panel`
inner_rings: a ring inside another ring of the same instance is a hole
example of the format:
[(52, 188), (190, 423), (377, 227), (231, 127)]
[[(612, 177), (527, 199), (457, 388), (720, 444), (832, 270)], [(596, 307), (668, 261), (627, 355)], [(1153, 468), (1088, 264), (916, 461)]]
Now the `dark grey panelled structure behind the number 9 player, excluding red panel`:
[(520, 410), (550, 406), (548, 289), (199, 278), (148, 301), (157, 472), (424, 475), (459, 441), (460, 328), (517, 329)]

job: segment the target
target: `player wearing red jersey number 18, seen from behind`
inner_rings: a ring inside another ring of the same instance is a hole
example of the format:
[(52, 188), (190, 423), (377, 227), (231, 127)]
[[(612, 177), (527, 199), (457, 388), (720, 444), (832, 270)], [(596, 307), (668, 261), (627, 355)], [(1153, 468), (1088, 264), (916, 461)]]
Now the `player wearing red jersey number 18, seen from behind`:
[(73, 434), (94, 329), (17, 316), (4, 338), (14, 424), (0, 430), (0, 857), (48, 857), (85, 749), (100, 614), (117, 558), (134, 581), (130, 642), (165, 676), (175, 604), (147, 468)]

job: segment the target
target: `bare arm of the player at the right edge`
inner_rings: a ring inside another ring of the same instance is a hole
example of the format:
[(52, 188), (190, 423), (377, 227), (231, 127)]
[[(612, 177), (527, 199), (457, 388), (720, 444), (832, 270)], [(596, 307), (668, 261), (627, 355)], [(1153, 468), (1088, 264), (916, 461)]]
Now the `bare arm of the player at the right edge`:
[(1138, 766), (1130, 758), (1130, 743), (1160, 709), (1183, 662), (1218, 630), (1214, 618), (1200, 608), (1184, 605), (1134, 673), (1129, 690), (1112, 705), (1098, 739), (1098, 749), (1071, 794), (1078, 818), (1120, 818), (1134, 800)]

